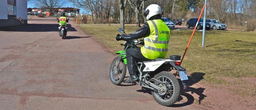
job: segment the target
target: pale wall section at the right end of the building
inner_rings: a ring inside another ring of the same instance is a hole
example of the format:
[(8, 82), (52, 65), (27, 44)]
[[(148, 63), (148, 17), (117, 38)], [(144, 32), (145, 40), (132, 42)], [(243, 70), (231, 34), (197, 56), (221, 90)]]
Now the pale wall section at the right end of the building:
[[(7, 4), (7, 2), (6, 2)], [(7, 10), (6, 10), (7, 12)], [(28, 19), (27, 17), (27, 0), (16, 0), (16, 16)]]

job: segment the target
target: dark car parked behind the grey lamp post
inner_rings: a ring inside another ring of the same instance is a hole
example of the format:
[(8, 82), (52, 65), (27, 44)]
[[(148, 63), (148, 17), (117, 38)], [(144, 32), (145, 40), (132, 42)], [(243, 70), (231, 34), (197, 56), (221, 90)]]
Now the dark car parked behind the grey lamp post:
[[(187, 21), (186, 23), (186, 27), (189, 28), (189, 27), (195, 27), (196, 23), (197, 23), (197, 20), (198, 18), (191, 18)], [(204, 24), (204, 19), (200, 19), (200, 21), (198, 22), (198, 26), (197, 26), (197, 29), (198, 30), (202, 30), (203, 29), (203, 24)], [(206, 22), (205, 24), (205, 29), (206, 30), (209, 30), (210, 29), (210, 23), (209, 22)]]

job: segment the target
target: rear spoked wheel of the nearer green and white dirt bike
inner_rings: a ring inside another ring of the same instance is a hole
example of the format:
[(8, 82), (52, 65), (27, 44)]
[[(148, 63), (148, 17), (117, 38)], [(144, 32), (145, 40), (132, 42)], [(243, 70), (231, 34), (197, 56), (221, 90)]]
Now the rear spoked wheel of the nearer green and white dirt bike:
[(156, 74), (154, 78), (166, 82), (166, 84), (158, 84), (162, 91), (151, 91), (155, 101), (163, 106), (174, 104), (180, 96), (180, 85), (177, 78), (167, 71)]

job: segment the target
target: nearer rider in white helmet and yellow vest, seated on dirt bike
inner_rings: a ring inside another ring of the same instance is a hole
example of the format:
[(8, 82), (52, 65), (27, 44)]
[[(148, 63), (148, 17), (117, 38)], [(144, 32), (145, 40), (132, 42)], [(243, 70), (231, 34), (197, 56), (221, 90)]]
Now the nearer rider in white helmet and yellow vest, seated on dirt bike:
[(127, 67), (130, 77), (125, 82), (137, 81), (138, 71), (136, 61), (154, 60), (156, 58), (165, 58), (168, 51), (170, 29), (161, 19), (162, 10), (159, 5), (149, 5), (143, 11), (143, 16), (148, 20), (143, 27), (131, 34), (117, 35), (116, 40), (134, 40), (144, 39), (144, 46), (129, 48), (126, 51)]

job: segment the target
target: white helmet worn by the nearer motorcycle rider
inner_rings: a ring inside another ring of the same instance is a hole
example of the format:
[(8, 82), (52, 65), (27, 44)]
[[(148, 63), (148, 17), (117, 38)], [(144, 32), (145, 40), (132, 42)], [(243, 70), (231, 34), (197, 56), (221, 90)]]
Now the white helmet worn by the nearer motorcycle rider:
[(148, 20), (154, 15), (162, 14), (161, 7), (157, 4), (149, 5), (145, 10), (143, 11), (143, 15), (146, 16), (146, 19)]

